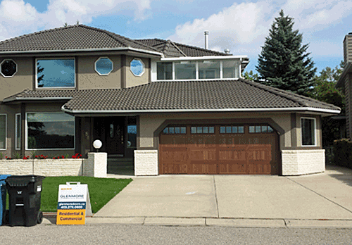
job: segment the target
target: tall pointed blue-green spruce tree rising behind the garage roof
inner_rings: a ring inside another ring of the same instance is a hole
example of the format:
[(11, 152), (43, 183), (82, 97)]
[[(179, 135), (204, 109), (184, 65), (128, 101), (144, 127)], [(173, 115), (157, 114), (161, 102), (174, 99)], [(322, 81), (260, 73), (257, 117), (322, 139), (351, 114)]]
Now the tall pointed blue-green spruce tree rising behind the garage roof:
[(308, 44), (302, 45), (302, 34), (293, 25), (294, 19), (280, 11), (258, 58), (258, 82), (307, 95), (316, 68), (307, 53)]

